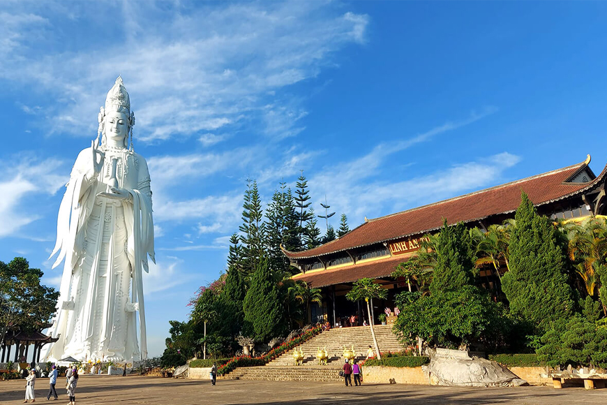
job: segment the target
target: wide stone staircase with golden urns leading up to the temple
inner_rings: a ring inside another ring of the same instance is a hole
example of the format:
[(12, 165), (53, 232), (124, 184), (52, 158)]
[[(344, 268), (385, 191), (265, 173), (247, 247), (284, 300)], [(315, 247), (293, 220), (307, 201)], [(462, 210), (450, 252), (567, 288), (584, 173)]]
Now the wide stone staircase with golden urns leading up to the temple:
[[(404, 347), (392, 332), (391, 325), (376, 325), (375, 336), (382, 353), (402, 351)], [(367, 356), (369, 346), (373, 347), (373, 337), (370, 327), (343, 327), (331, 329), (309, 339), (297, 346), (298, 351), (304, 352), (304, 364), (294, 365), (293, 349), (283, 353), (264, 366), (239, 367), (223, 379), (266, 380), (266, 381), (341, 381), (339, 370), (343, 366), (343, 346), (352, 348), (357, 353), (357, 360)], [(326, 366), (318, 364), (316, 352), (318, 348), (327, 348), (329, 361)]]

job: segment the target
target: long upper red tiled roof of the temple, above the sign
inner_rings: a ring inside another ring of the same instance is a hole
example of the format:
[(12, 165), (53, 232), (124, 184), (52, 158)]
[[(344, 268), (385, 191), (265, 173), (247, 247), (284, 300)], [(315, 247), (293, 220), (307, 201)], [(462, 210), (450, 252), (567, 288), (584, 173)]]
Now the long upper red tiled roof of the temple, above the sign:
[(495, 214), (507, 214), (514, 212), (520, 204), (521, 191), (525, 191), (535, 205), (561, 200), (592, 188), (604, 177), (605, 169), (599, 177), (591, 182), (564, 183), (584, 168), (587, 168), (587, 163), (590, 163), (590, 155), (586, 161), (567, 168), (371, 219), (343, 235), (343, 237), (315, 249), (284, 252), (287, 257), (292, 259), (313, 258), (378, 242), (397, 240), (409, 235), (427, 233), (440, 228), (444, 218), (449, 223), (457, 223), (460, 221), (479, 221)]

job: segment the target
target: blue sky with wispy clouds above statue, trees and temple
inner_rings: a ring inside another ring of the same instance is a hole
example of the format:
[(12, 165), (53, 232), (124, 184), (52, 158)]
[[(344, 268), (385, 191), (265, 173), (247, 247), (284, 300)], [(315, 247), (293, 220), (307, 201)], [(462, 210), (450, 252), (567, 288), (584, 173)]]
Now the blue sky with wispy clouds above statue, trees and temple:
[(160, 355), (225, 267), (247, 177), (267, 201), (304, 170), (317, 212), (326, 195), (353, 227), (586, 154), (600, 172), (606, 17), (590, 1), (3, 1), (0, 260), (58, 285), (63, 184), (122, 75), (152, 177)]

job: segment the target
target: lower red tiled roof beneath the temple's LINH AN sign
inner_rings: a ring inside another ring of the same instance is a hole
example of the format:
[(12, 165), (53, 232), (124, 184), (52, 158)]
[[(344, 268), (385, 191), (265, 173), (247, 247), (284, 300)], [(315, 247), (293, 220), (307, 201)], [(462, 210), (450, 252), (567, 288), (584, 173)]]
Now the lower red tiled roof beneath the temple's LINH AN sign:
[(333, 286), (334, 284), (352, 283), (363, 277), (377, 279), (388, 277), (398, 263), (409, 260), (411, 255), (392, 256), (380, 260), (374, 260), (359, 265), (350, 265), (338, 267), (333, 270), (321, 270), (319, 272), (308, 272), (308, 274), (297, 274), (293, 278), (306, 281), (310, 287), (320, 288), (324, 286)]

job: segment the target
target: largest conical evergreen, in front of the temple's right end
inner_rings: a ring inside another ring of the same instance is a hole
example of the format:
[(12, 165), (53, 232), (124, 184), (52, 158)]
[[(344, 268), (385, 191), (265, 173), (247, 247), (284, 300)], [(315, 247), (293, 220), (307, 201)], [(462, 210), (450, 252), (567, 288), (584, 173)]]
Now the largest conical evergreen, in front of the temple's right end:
[(539, 216), (523, 193), (516, 209), (516, 226), (510, 240), (509, 272), (502, 277), (502, 290), (512, 314), (530, 321), (537, 332), (559, 318), (567, 318), (574, 307), (567, 284), (564, 249), (546, 216)]

